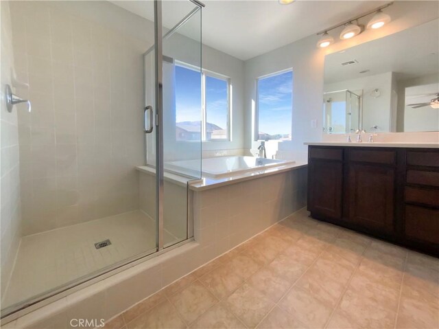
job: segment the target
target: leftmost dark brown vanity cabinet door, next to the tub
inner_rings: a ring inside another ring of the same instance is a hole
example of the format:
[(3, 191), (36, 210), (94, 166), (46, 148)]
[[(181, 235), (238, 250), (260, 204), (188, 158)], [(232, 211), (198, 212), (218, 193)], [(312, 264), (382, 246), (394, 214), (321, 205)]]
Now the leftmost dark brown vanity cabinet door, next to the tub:
[(341, 219), (343, 163), (313, 160), (308, 170), (308, 209), (311, 214)]

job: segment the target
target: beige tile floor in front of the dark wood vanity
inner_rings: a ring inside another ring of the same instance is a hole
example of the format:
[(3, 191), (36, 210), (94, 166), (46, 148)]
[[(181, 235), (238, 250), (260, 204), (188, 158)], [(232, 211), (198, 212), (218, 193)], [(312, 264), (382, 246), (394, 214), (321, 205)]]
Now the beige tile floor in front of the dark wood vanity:
[(439, 260), (294, 214), (106, 328), (439, 328)]

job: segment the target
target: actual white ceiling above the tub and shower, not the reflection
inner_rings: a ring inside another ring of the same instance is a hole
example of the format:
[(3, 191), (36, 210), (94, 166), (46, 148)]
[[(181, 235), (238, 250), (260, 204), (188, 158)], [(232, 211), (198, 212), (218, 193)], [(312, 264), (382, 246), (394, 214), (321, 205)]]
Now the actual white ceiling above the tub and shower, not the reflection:
[[(277, 0), (204, 0), (202, 42), (241, 60), (248, 60), (387, 2), (297, 0), (281, 5)], [(152, 1), (112, 3), (154, 20)], [(193, 4), (189, 1), (163, 1), (163, 25), (168, 28), (176, 25), (191, 8)], [(182, 33), (193, 37), (194, 31), (185, 29)]]

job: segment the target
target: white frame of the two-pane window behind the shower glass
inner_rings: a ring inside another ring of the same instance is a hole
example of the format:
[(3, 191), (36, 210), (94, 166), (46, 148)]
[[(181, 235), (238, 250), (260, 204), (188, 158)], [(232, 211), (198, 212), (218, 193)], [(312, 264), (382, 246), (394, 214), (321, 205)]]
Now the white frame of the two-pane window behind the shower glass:
[[(175, 66), (184, 67), (185, 69), (191, 69), (193, 71), (200, 72), (200, 67), (196, 67), (195, 65), (190, 65), (185, 62), (180, 62), (180, 60), (176, 60), (174, 63)], [(224, 76), (224, 74), (217, 73), (214, 71), (209, 71), (207, 69), (201, 69), (201, 141), (202, 142), (216, 142), (216, 141), (232, 141), (232, 97), (231, 97), (231, 79), (228, 76)], [(211, 78), (224, 80), (227, 82), (227, 138), (222, 139), (206, 139), (206, 76)]]

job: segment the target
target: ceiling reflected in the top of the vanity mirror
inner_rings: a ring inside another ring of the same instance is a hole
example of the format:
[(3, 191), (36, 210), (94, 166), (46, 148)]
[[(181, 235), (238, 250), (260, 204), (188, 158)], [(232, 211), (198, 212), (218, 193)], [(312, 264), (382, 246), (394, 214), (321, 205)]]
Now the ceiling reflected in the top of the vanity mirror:
[[(436, 19), (403, 32), (326, 56), (324, 83), (394, 72), (398, 80), (437, 74), (439, 21)], [(342, 65), (355, 61), (351, 65)], [(366, 71), (366, 73), (359, 73)]]

